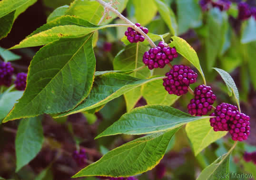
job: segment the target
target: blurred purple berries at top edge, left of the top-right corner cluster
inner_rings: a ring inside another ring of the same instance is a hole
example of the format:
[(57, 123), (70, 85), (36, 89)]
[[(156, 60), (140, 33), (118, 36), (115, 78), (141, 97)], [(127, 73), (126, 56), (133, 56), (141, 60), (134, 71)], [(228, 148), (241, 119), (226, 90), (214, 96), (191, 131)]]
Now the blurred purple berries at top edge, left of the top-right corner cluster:
[(207, 11), (211, 7), (216, 7), (223, 11), (228, 10), (230, 8), (231, 2), (229, 0), (200, 0), (199, 5), (201, 6), (203, 11)]

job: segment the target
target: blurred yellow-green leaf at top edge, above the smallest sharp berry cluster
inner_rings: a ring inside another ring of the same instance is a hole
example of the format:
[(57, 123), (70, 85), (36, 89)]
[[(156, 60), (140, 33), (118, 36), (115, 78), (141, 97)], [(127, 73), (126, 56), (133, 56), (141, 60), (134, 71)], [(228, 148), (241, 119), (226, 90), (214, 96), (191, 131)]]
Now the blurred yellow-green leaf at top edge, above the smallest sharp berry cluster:
[(142, 26), (147, 25), (157, 14), (154, 0), (133, 0), (135, 18)]

